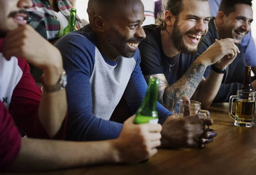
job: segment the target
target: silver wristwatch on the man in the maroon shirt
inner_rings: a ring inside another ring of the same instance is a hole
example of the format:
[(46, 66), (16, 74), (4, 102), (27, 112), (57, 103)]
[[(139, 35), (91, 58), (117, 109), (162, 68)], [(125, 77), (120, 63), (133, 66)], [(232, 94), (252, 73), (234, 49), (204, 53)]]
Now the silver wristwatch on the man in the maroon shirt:
[(64, 89), (67, 86), (67, 74), (66, 74), (66, 71), (65, 70), (62, 71), (61, 77), (58, 80), (57, 84), (55, 84), (53, 86), (46, 86), (44, 84), (44, 81), (42, 83), (43, 83), (43, 90), (45, 92), (56, 92), (56, 91), (62, 90), (62, 89)]

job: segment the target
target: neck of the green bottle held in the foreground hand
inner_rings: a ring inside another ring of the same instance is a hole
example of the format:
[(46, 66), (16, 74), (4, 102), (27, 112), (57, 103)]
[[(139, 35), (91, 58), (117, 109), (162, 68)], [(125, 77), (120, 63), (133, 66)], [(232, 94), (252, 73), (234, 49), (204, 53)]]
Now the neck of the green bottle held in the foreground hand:
[(156, 80), (150, 80), (148, 90), (143, 100), (141, 108), (146, 111), (157, 110), (158, 83)]

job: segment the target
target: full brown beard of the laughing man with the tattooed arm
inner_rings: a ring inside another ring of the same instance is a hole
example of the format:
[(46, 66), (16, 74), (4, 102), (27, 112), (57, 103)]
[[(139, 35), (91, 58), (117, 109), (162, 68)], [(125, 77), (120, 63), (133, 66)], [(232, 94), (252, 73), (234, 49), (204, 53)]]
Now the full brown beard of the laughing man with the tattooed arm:
[[(189, 31), (186, 31), (185, 33), (181, 33), (180, 28), (177, 26), (177, 24), (178, 24), (178, 20), (176, 19), (175, 23), (173, 24), (172, 37), (171, 37), (175, 48), (178, 51), (186, 53), (186, 54), (196, 53), (198, 51), (198, 47), (199, 47), (200, 43), (204, 40), (205, 33), (201, 32), (199, 30), (189, 30)], [(201, 33), (202, 36), (199, 40), (199, 43), (197, 44), (197, 47), (194, 49), (194, 47), (191, 48), (186, 45), (185, 36), (187, 34), (196, 34), (196, 33)]]

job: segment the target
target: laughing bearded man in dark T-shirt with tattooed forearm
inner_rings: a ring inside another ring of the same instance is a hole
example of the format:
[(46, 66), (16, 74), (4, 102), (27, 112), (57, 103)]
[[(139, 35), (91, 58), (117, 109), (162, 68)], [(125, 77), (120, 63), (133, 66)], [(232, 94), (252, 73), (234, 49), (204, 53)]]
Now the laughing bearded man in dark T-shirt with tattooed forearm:
[[(158, 101), (170, 111), (175, 111), (183, 95), (208, 108), (223, 78), (218, 71), (226, 69), (240, 52), (238, 41), (219, 40), (197, 58), (210, 20), (207, 0), (165, 0), (162, 8), (158, 25), (143, 27), (147, 35), (139, 45), (143, 75), (147, 81), (151, 76), (160, 79)], [(221, 59), (224, 55), (229, 57)], [(211, 71), (205, 80), (204, 71), (212, 64), (218, 71)]]

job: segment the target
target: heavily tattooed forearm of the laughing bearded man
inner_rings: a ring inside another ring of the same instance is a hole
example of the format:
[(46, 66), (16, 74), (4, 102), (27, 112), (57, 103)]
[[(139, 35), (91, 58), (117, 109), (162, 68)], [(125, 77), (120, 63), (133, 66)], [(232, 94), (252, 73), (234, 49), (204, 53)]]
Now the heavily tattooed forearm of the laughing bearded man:
[(175, 112), (176, 103), (184, 95), (192, 97), (204, 75), (203, 64), (192, 63), (186, 73), (176, 83), (169, 86), (163, 95), (164, 106)]

